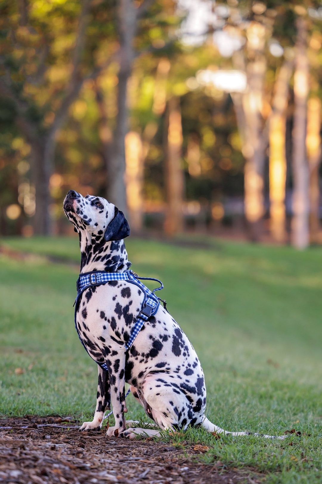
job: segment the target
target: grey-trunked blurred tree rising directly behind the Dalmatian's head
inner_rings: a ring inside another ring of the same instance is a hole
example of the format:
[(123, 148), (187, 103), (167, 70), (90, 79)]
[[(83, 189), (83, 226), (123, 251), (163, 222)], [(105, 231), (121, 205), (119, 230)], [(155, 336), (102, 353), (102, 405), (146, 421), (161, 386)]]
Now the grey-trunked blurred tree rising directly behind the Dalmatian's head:
[[(152, 11), (150, 12), (150, 9)], [(108, 173), (108, 198), (123, 212), (127, 211), (126, 203), (126, 133), (128, 132), (128, 81), (132, 74), (135, 61), (143, 54), (162, 55), (163, 49), (173, 43), (174, 21), (173, 13), (175, 2), (173, 0), (117, 0), (116, 25), (118, 33), (118, 73), (116, 94), (116, 118), (109, 142), (109, 154), (105, 141)], [(162, 27), (162, 28), (161, 28)], [(167, 40), (168, 42), (164, 39)], [(152, 42), (151, 42), (152, 41)], [(147, 74), (147, 73), (145, 73)], [(102, 106), (102, 104), (101, 104)], [(131, 138), (129, 138), (131, 139)], [(137, 182), (141, 177), (137, 178)], [(133, 180), (132, 180), (133, 182)], [(129, 193), (129, 191), (127, 191)], [(140, 192), (140, 190), (139, 190)], [(134, 216), (134, 215), (133, 215)], [(137, 230), (139, 230), (140, 217), (135, 216)], [(139, 225), (138, 225), (139, 224)]]

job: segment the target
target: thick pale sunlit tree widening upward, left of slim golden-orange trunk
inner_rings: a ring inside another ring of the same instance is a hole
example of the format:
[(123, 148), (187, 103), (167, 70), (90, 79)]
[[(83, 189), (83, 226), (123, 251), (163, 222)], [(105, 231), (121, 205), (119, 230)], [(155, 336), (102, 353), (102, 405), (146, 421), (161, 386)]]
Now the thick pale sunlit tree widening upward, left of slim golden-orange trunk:
[[(243, 87), (223, 86), (234, 101), (238, 131), (242, 140), (244, 166), (244, 212), (249, 237), (259, 240), (262, 219), (266, 212), (264, 168), (268, 145), (269, 106), (267, 102), (267, 43), (272, 35), (275, 15), (263, 2), (230, 2), (229, 8), (218, 10), (224, 25), (215, 39), (219, 52), (232, 58), (238, 73), (244, 73)], [(218, 35), (223, 32), (224, 35)], [(225, 48), (224, 42), (231, 47)]]

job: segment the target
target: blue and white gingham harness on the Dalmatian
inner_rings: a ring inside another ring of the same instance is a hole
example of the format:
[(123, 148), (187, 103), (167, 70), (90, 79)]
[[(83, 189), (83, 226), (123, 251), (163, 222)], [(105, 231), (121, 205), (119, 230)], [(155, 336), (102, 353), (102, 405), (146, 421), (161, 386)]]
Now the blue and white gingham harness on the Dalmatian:
[[(140, 279), (143, 280), (148, 280), (148, 281), (156, 281), (160, 283), (160, 287), (156, 287), (153, 291), (150, 291), (150, 289), (144, 284), (140, 282)], [(161, 298), (158, 298), (155, 296), (154, 291), (160, 291), (163, 289), (163, 284), (159, 279), (154, 279), (153, 277), (139, 277), (138, 274), (136, 274), (133, 271), (126, 271), (126, 272), (105, 272), (105, 271), (93, 271), (93, 272), (85, 272), (84, 274), (80, 274), (77, 282), (76, 282), (76, 288), (77, 288), (77, 297), (74, 302), (75, 306), (75, 328), (78, 334), (78, 337), (84, 346), (84, 348), (87, 351), (87, 348), (84, 345), (84, 342), (81, 338), (80, 332), (77, 328), (77, 323), (76, 323), (76, 313), (79, 307), (81, 295), (83, 292), (88, 289), (89, 287), (96, 287), (100, 286), (101, 284), (106, 284), (110, 281), (126, 281), (129, 282), (130, 284), (134, 284), (135, 286), (139, 287), (141, 291), (144, 294), (144, 299), (142, 302), (141, 310), (139, 313), (139, 316), (134, 324), (134, 327), (132, 329), (132, 332), (130, 334), (130, 337), (128, 341), (125, 343), (126, 351), (128, 351), (131, 346), (133, 345), (135, 338), (137, 335), (140, 333), (142, 326), (146, 321), (148, 321), (154, 314), (157, 312), (160, 301), (164, 303), (165, 309), (166, 307), (166, 302), (163, 301)], [(88, 353), (88, 351), (87, 351)], [(89, 353), (88, 353), (89, 354)], [(93, 360), (94, 358), (89, 355)], [(96, 361), (96, 360), (94, 360)], [(108, 367), (106, 363), (99, 363), (96, 362), (103, 370), (108, 371)]]

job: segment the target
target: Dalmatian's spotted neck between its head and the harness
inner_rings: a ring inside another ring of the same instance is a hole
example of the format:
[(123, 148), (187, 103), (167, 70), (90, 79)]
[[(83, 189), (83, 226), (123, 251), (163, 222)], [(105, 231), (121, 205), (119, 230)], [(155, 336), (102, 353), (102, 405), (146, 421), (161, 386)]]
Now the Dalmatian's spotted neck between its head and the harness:
[(79, 232), (81, 248), (81, 273), (92, 271), (125, 272), (131, 267), (123, 240), (97, 241), (87, 231)]

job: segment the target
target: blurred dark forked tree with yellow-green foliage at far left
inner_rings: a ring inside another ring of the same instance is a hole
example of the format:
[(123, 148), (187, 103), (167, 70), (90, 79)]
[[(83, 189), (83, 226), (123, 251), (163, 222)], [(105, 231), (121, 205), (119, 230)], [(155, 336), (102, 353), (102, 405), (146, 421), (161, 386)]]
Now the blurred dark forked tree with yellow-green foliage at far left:
[(104, 60), (95, 62), (103, 39), (114, 40), (110, 27), (105, 31), (97, 27), (99, 15), (106, 17), (110, 2), (100, 2), (91, 11), (90, 4), (90, 0), (63, 4), (21, 0), (3, 1), (0, 6), (0, 96), (11, 101), (16, 125), (31, 147), (35, 233), (50, 229), (48, 187), (57, 131), (84, 81), (96, 78), (114, 59), (115, 42), (111, 42), (110, 49), (104, 46)]

